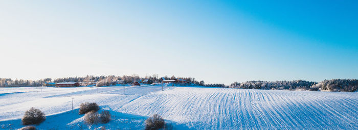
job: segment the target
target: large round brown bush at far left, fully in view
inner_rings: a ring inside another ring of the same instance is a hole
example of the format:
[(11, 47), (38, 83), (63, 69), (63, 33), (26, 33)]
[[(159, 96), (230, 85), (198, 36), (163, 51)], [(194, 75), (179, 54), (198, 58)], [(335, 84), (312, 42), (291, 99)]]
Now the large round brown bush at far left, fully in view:
[(42, 113), (39, 109), (31, 108), (30, 110), (25, 112), (24, 117), (21, 119), (23, 124), (39, 124), (46, 119), (44, 113)]

